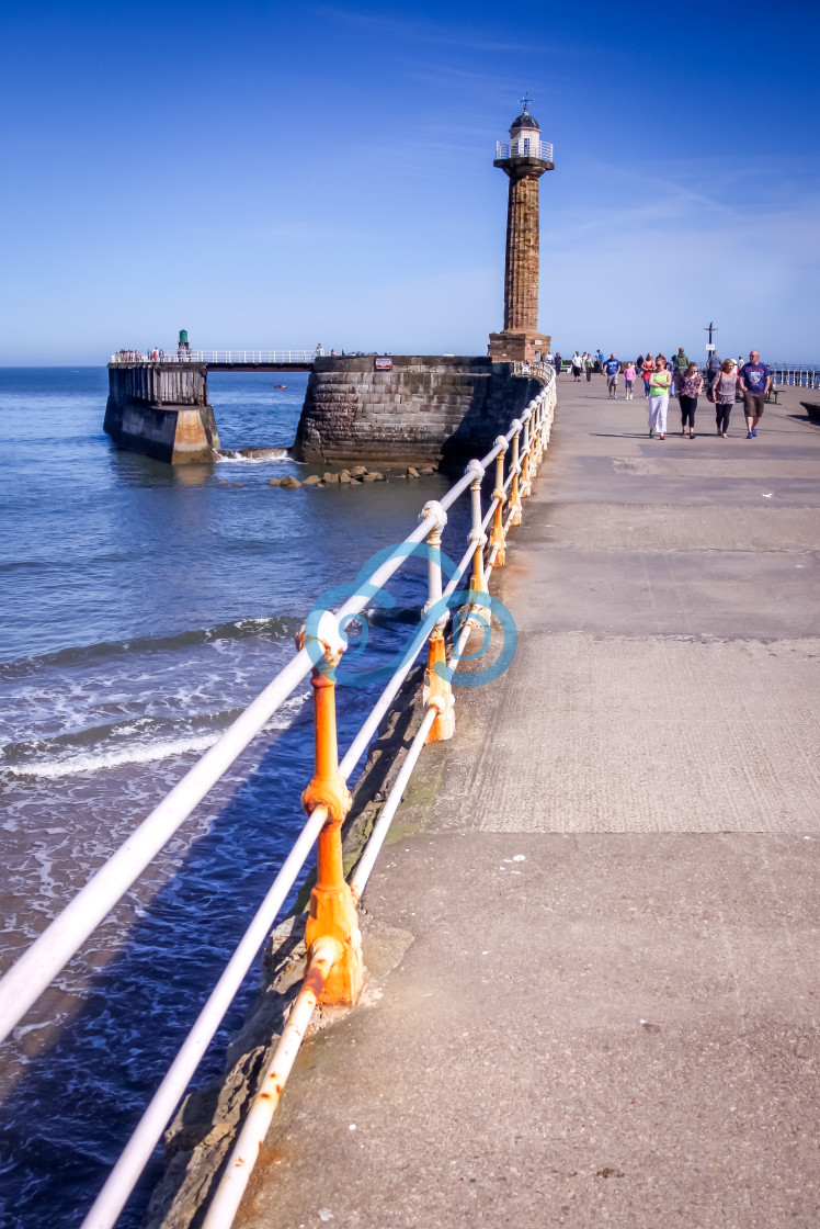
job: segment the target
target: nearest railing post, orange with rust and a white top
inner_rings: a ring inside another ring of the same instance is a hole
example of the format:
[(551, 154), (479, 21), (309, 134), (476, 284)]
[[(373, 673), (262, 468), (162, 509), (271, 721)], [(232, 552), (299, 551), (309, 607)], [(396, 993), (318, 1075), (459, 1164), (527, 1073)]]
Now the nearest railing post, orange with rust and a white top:
[[(303, 646), (304, 639), (302, 632), (296, 642), (298, 648)], [(338, 959), (330, 970), (319, 1002), (352, 1005), (365, 983), (365, 966), (356, 907), (345, 881), (341, 853), (341, 825), (350, 810), (351, 799), (339, 772), (336, 666), (346, 645), (329, 612), (319, 621), (317, 640), (324, 660), (314, 665), (311, 680), (315, 760), (313, 779), (302, 794), (302, 806), (308, 815), (317, 806), (324, 807), (327, 820), (317, 842), (317, 881), (311, 892), (304, 943), (308, 964), (311, 950), (319, 940), (333, 940), (336, 944)]]

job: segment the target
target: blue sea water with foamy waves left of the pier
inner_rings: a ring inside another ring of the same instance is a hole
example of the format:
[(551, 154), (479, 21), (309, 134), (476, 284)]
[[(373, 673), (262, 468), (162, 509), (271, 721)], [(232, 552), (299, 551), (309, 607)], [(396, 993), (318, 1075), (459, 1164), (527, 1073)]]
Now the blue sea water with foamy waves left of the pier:
[[(306, 383), (212, 374), (223, 450), (282, 451), (172, 468), (103, 434), (106, 369), (0, 369), (2, 971), (290, 659), (313, 602), (446, 488), (271, 487), (309, 472), (285, 451)], [(373, 602), (371, 662), (406, 644), (424, 573), (411, 563), (393, 605)], [(373, 696), (339, 688), (342, 751)], [(304, 685), (0, 1047), (6, 1229), (81, 1222), (297, 834), (311, 771)]]

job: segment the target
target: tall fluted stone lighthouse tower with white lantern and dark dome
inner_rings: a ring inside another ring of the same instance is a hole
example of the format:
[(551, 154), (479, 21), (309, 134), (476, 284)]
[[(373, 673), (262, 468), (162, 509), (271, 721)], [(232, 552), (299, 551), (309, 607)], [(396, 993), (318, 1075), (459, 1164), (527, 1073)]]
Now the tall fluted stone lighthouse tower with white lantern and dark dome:
[(509, 176), (507, 258), (505, 264), (505, 328), (490, 333), (495, 363), (532, 363), (550, 348), (538, 328), (538, 181), (554, 171), (552, 146), (541, 140), (538, 120), (524, 111), (513, 119), (509, 144), (496, 141), (492, 163)]

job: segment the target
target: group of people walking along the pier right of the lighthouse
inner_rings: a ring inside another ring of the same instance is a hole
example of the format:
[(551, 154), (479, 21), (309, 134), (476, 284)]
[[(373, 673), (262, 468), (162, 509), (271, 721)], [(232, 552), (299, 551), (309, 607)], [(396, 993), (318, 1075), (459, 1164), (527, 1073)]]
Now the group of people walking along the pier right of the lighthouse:
[[(574, 355), (572, 361), (574, 375)], [(695, 439), (697, 398), (705, 387), (708, 401), (714, 404), (717, 434), (723, 439), (727, 438), (732, 407), (740, 393), (746, 418), (746, 439), (755, 439), (772, 382), (772, 374), (766, 364), (760, 361), (757, 350), (751, 350), (749, 361), (743, 365), (735, 364), (734, 359), (724, 359), (722, 363), (717, 355), (710, 355), (706, 377), (697, 364), (689, 359), (683, 345), (679, 347), (671, 363), (665, 354), (641, 354), (635, 363), (621, 364), (620, 359), (611, 354), (603, 361), (601, 367), (610, 401), (617, 398), (617, 381), (621, 372), (627, 401), (633, 399), (636, 382), (643, 380), (644, 396), (649, 402), (649, 436), (658, 440), (667, 438), (669, 397), (673, 393), (680, 404), (680, 434), (684, 439)]]

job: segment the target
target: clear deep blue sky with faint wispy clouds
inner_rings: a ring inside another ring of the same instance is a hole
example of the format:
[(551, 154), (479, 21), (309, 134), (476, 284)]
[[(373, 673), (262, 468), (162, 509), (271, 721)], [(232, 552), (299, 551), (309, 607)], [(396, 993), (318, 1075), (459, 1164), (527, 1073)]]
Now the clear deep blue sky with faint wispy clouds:
[[(0, 363), (485, 353), (525, 90), (565, 354), (820, 360), (819, 6), (43, 4), (2, 17)], [(804, 48), (802, 54), (800, 48)]]

